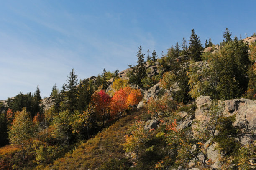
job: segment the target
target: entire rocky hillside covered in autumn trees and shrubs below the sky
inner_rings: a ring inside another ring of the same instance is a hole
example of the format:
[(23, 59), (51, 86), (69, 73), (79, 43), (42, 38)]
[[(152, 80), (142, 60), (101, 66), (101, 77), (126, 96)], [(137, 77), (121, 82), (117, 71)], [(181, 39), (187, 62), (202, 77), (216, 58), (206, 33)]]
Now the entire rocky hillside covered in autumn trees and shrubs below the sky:
[(255, 169), (256, 36), (189, 44), (1, 101), (0, 169)]

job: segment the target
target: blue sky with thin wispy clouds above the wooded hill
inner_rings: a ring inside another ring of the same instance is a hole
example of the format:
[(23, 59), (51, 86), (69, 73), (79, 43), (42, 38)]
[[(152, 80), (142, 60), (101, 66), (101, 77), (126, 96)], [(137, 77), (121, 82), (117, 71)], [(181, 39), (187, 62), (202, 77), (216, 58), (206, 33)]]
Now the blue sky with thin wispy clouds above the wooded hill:
[(79, 79), (125, 70), (136, 53), (161, 51), (194, 28), (202, 43), (223, 31), (256, 32), (255, 0), (22, 0), (0, 5), (0, 100), (19, 92), (49, 96), (74, 68)]

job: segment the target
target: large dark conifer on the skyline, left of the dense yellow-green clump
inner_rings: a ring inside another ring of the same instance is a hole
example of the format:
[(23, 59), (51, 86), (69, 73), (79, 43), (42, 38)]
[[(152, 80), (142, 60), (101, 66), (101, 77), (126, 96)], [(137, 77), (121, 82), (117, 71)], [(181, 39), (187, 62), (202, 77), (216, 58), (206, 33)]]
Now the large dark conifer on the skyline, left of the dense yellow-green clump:
[(202, 44), (200, 37), (195, 34), (194, 29), (191, 30), (191, 36), (189, 40), (189, 57), (194, 61), (201, 61), (200, 55), (202, 55)]

